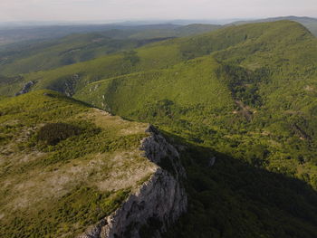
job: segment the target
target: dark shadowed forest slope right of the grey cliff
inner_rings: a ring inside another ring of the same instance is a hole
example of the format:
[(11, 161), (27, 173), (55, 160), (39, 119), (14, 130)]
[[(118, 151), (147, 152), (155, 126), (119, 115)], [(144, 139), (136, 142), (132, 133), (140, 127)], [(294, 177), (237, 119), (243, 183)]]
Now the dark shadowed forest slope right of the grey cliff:
[[(304, 182), (187, 145), (188, 213), (164, 235), (176, 237), (316, 236), (316, 191)], [(207, 167), (216, 157), (214, 167)]]

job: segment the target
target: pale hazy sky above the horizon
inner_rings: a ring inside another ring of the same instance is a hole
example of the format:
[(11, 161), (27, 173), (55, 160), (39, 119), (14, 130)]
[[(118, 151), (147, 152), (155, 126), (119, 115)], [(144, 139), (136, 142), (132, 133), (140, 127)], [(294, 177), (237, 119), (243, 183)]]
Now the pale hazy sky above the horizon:
[(0, 21), (317, 17), (317, 0), (0, 0)]

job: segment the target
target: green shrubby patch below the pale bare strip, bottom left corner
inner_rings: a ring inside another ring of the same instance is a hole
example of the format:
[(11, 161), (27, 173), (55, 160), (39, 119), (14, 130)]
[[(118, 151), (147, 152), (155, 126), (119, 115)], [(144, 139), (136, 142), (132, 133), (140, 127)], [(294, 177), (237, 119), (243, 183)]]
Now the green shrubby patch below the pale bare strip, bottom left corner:
[(1, 222), (0, 234), (10, 238), (74, 237), (115, 211), (129, 195), (129, 189), (101, 193), (93, 187), (79, 186), (37, 211), (8, 214)]

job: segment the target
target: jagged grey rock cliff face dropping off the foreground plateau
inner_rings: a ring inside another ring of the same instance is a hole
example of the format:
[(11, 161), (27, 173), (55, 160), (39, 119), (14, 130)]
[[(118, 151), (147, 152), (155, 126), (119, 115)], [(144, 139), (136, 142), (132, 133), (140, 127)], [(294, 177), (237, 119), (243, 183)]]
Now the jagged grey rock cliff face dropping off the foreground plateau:
[(149, 180), (110, 216), (92, 226), (78, 238), (160, 237), (187, 211), (187, 195), (182, 186), (186, 176), (178, 150), (152, 126), (144, 138), (144, 156), (159, 167)]

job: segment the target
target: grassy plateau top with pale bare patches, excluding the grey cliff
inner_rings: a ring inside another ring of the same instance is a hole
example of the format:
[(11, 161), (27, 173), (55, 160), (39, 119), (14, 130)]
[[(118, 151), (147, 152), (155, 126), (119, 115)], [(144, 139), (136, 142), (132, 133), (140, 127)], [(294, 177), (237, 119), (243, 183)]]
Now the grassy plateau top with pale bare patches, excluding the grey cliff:
[[(59, 93), (0, 100), (0, 115), (1, 237), (74, 237), (115, 210), (155, 167), (139, 152), (147, 124)], [(57, 144), (41, 140), (44, 125), (60, 122), (80, 132)]]

